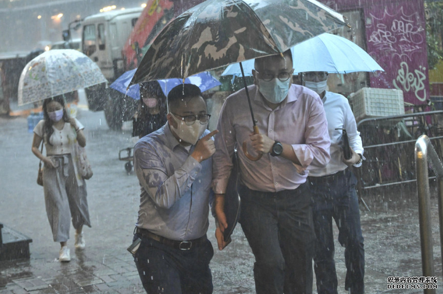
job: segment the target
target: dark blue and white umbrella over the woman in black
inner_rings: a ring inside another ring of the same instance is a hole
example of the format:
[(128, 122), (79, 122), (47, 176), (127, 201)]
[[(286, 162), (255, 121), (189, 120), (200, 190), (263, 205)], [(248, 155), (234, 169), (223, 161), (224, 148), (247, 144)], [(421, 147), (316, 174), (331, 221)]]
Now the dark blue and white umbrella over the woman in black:
[[(127, 96), (134, 98), (135, 100), (140, 99), (140, 86), (137, 84), (132, 85), (128, 88), (129, 82), (132, 80), (134, 73), (137, 69), (133, 69), (125, 72), (121, 76), (119, 76), (113, 83), (111, 83), (111, 88), (126, 94)], [(183, 83), (182, 79), (178, 78), (170, 78), (170, 79), (160, 79), (158, 80), (160, 87), (165, 93), (165, 96), (168, 96), (169, 91), (177, 85)], [(202, 92), (214, 88), (216, 86), (222, 85), (216, 78), (214, 78), (209, 72), (202, 72), (185, 79), (185, 83), (192, 83), (193, 85), (200, 88)]]

